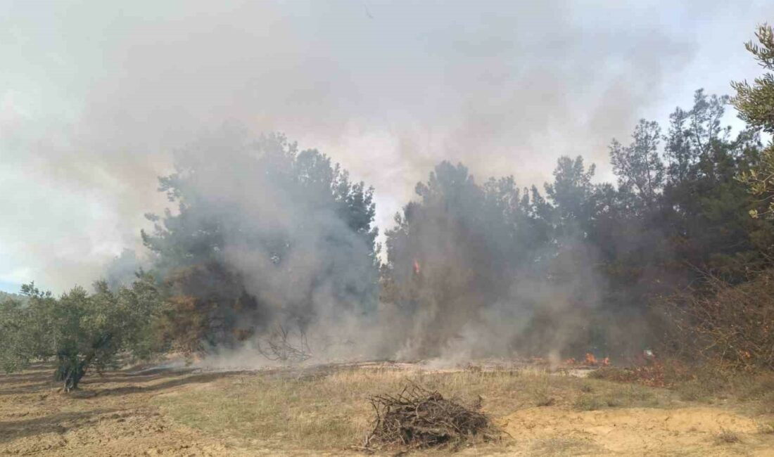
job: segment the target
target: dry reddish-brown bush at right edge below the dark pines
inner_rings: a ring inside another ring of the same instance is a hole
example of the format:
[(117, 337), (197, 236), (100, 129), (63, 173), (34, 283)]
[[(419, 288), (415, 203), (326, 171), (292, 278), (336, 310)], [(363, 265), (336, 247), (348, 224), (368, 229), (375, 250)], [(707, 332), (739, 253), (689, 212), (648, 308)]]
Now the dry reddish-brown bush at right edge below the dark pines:
[(729, 285), (704, 275), (690, 288), (660, 301), (673, 331), (670, 350), (741, 370), (774, 370), (774, 270)]

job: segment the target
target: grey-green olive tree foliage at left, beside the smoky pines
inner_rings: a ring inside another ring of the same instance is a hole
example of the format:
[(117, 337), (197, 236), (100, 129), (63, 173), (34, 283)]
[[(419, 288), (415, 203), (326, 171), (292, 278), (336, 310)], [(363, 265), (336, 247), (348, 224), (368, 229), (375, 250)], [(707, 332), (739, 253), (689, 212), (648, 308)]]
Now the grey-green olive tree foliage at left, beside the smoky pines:
[(111, 292), (106, 281), (89, 294), (76, 286), (60, 297), (34, 283), (26, 298), (0, 304), (0, 367), (22, 370), (35, 360), (54, 360), (54, 379), (77, 389), (87, 370), (115, 367), (118, 356), (145, 357), (155, 350), (152, 322), (160, 294), (149, 275)]

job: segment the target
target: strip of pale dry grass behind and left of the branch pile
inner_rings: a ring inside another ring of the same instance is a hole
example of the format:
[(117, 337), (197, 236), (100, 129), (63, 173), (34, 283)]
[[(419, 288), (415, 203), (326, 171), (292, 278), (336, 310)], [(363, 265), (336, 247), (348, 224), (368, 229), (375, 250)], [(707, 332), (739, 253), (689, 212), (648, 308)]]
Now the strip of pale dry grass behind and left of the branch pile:
[[(543, 370), (428, 373), (420, 370), (345, 368), (316, 375), (250, 374), (218, 381), (207, 389), (158, 398), (176, 421), (228, 438), (258, 439), (286, 449), (346, 449), (371, 431), (368, 397), (399, 391), (406, 382), (474, 404), (498, 418), (512, 411), (547, 406), (572, 408), (668, 408), (666, 390), (606, 380), (552, 376)], [(594, 390), (591, 400), (585, 391)]]

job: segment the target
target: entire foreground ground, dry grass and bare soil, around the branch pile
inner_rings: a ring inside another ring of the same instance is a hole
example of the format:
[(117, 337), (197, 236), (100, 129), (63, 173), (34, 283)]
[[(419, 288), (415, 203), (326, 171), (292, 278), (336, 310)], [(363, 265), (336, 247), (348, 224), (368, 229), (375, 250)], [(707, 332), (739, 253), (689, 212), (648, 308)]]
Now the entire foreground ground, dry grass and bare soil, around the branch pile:
[(368, 395), (407, 380), (478, 399), (505, 432), (460, 455), (774, 455), (774, 415), (753, 404), (529, 368), (119, 370), (69, 395), (50, 374), (0, 376), (0, 455), (358, 455)]

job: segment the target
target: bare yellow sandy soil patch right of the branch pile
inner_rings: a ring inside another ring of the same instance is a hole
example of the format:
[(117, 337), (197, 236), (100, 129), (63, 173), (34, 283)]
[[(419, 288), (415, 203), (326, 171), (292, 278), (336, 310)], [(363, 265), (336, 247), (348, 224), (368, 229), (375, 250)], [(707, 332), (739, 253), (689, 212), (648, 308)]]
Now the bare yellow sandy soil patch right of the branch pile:
[[(774, 455), (758, 421), (719, 408), (529, 408), (499, 425), (535, 455)], [(724, 442), (723, 431), (740, 441)]]

